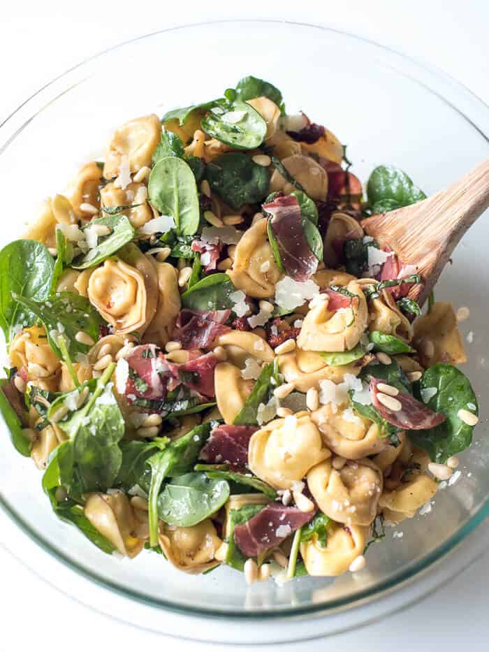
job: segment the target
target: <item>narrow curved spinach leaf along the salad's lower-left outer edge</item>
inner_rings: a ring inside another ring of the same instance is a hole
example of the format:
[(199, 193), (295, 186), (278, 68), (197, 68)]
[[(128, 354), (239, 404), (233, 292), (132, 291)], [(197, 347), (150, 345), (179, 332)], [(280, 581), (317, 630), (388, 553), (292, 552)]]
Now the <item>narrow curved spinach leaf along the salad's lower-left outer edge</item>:
[(110, 555), (115, 551), (115, 547), (108, 539), (101, 535), (94, 526), (92, 526), (92, 523), (90, 523), (83, 512), (82, 505), (78, 505), (78, 503), (75, 502), (75, 500), (72, 500), (69, 495), (64, 498), (64, 500), (59, 500), (57, 498), (57, 490), (61, 487), (65, 487), (62, 459), (65, 455), (65, 451), (70, 448), (71, 442), (63, 442), (52, 452), (48, 468), (43, 474), (43, 490), (50, 499), (54, 514), (56, 514), (61, 521), (71, 523), (73, 526), (78, 528), (80, 532), (89, 539), (89, 541), (100, 548), (101, 551)]

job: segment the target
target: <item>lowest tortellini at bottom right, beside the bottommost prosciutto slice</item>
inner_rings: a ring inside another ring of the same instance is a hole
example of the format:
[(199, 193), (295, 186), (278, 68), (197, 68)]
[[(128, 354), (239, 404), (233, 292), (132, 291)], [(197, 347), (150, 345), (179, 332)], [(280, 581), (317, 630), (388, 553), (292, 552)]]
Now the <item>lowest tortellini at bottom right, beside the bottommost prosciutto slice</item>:
[(346, 573), (353, 559), (363, 554), (368, 533), (369, 528), (363, 526), (331, 523), (326, 548), (321, 547), (317, 535), (301, 543), (300, 554), (309, 575), (335, 577)]

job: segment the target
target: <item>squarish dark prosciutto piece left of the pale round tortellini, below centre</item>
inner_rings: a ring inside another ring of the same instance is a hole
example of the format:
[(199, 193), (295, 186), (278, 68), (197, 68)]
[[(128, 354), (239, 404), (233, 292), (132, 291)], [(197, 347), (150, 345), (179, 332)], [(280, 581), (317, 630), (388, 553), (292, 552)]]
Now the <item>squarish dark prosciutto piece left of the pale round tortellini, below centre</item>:
[(200, 451), (200, 458), (210, 463), (246, 467), (249, 440), (256, 430), (254, 426), (217, 426)]

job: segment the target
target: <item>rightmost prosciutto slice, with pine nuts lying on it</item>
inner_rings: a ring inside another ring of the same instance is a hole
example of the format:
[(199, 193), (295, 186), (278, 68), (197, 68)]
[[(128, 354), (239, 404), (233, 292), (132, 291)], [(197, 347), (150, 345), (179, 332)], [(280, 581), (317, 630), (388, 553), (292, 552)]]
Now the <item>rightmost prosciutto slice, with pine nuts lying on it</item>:
[(397, 394), (395, 398), (400, 402), (402, 407), (397, 412), (391, 410), (379, 401), (379, 389), (377, 389), (379, 382), (382, 381), (374, 377), (370, 379), (373, 405), (377, 412), (393, 426), (403, 428), (404, 430), (427, 430), (428, 428), (439, 426), (440, 423), (446, 420), (444, 414), (433, 412), (429, 407), (416, 400), (414, 396), (411, 396), (411, 394)]

